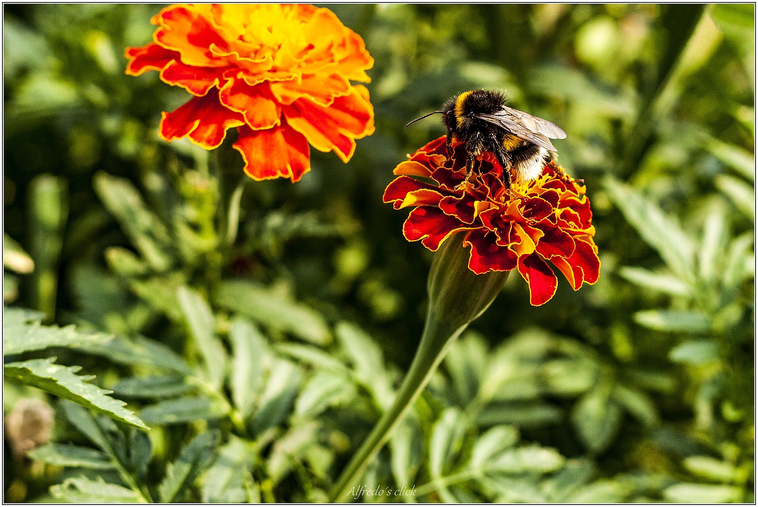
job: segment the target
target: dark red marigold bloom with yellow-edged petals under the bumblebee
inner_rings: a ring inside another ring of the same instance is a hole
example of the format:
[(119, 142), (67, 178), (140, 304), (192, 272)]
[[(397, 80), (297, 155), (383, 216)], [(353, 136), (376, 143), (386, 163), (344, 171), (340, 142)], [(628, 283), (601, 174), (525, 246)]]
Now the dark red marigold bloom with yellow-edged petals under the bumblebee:
[(399, 163), (394, 173), (401, 176), (384, 191), (384, 202), (395, 209), (415, 207), (403, 226), (406, 239), (435, 251), (454, 233), (467, 231), (468, 268), (477, 274), (518, 268), (534, 306), (547, 303), (558, 288), (547, 260), (575, 291), (597, 281), (600, 259), (583, 185), (550, 162), (536, 180), (506, 189), (503, 168), (486, 152), (466, 180), (465, 144), (454, 142), (448, 158), (445, 140)]

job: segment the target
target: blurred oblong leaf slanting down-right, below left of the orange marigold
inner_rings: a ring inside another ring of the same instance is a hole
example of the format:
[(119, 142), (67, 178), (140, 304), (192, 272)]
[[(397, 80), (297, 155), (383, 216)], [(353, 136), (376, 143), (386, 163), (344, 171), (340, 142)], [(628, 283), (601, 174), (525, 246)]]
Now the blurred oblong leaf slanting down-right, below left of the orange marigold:
[(158, 216), (146, 207), (134, 185), (127, 179), (100, 171), (92, 180), (92, 186), (150, 267), (157, 272), (167, 270), (172, 263), (168, 253), (171, 236)]

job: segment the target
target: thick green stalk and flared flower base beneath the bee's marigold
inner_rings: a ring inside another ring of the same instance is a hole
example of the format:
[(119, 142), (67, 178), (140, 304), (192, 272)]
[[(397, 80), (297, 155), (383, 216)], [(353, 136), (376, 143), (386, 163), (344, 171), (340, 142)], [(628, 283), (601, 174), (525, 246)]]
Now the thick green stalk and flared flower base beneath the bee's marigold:
[(459, 232), (447, 238), (435, 254), (427, 281), (429, 306), (426, 324), (411, 367), (392, 406), (384, 412), (330, 491), (330, 502), (349, 501), (345, 498), (346, 494), (351, 487), (360, 486), (356, 481), (361, 479), (368, 463), (387, 443), (393, 430), (426, 387), (450, 344), (484, 313), (503, 288), (508, 271), (476, 275), (468, 269), (468, 250), (462, 245), (464, 236), (465, 232)]

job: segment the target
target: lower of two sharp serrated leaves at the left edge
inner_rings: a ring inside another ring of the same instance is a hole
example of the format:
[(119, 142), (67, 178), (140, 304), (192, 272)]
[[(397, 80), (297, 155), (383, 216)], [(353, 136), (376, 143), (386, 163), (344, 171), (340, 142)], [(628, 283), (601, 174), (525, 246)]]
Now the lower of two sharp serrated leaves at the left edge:
[(55, 358), (48, 358), (11, 362), (5, 365), (5, 378), (46, 390), (128, 425), (149, 429), (134, 412), (124, 408), (126, 403), (106, 396), (111, 391), (85, 383), (94, 377), (74, 375), (81, 366), (56, 365), (54, 360)]

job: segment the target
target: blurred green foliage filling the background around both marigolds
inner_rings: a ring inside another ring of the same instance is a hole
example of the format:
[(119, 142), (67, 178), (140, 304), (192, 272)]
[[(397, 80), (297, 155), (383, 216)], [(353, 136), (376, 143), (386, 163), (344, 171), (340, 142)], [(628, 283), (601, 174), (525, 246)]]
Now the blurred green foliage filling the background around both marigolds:
[(381, 196), (444, 129), (404, 125), (496, 88), (567, 132), (600, 280), (509, 277), (357, 500), (753, 502), (753, 5), (330, 6), (377, 129), (294, 185), (158, 138), (188, 95), (122, 54), (160, 8), (5, 6), (4, 409), (55, 409), (6, 501), (324, 501), (423, 327)]

